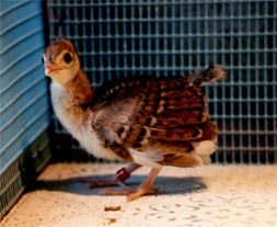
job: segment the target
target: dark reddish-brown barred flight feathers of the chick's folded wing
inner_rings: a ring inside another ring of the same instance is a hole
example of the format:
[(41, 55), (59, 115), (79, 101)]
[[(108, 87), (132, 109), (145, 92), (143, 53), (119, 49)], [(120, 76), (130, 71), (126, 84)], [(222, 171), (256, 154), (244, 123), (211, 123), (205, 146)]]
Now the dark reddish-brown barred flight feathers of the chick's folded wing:
[(206, 105), (203, 89), (191, 84), (188, 78), (149, 82), (124, 143), (143, 149), (153, 141), (183, 143), (184, 146), (192, 141), (213, 140), (216, 127)]

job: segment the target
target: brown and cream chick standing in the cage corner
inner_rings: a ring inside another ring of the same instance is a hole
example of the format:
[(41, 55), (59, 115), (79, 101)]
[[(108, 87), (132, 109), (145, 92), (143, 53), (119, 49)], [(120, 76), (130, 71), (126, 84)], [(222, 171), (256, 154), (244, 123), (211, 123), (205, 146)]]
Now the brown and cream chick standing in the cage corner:
[(200, 86), (224, 78), (220, 66), (192, 77), (118, 82), (97, 93), (80, 68), (71, 42), (51, 43), (43, 63), (45, 75), (51, 79), (53, 107), (65, 128), (95, 157), (129, 162), (114, 177), (92, 182), (93, 188), (125, 185), (131, 172), (150, 167), (137, 189), (104, 191), (127, 194), (132, 201), (152, 189), (163, 166), (185, 168), (209, 162), (218, 129)]

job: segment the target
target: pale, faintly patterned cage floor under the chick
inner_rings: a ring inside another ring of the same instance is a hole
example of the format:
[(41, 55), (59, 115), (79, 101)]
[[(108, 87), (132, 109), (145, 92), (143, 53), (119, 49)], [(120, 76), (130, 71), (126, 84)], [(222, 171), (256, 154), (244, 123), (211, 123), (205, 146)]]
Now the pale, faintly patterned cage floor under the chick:
[[(49, 164), (1, 226), (277, 226), (276, 166), (166, 167), (155, 182), (159, 195), (129, 203), (125, 196), (100, 195), (79, 179), (112, 174), (119, 168), (119, 164)], [(138, 170), (129, 183), (138, 184), (148, 171)], [(109, 206), (119, 211), (105, 211)]]

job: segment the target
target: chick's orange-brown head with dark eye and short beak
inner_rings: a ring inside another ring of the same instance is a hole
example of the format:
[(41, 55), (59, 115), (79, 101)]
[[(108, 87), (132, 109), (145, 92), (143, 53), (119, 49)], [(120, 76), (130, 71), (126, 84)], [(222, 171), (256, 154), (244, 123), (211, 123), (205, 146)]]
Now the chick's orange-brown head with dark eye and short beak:
[(61, 86), (72, 81), (80, 70), (80, 60), (73, 44), (64, 38), (53, 42), (45, 49), (42, 61), (45, 75)]

